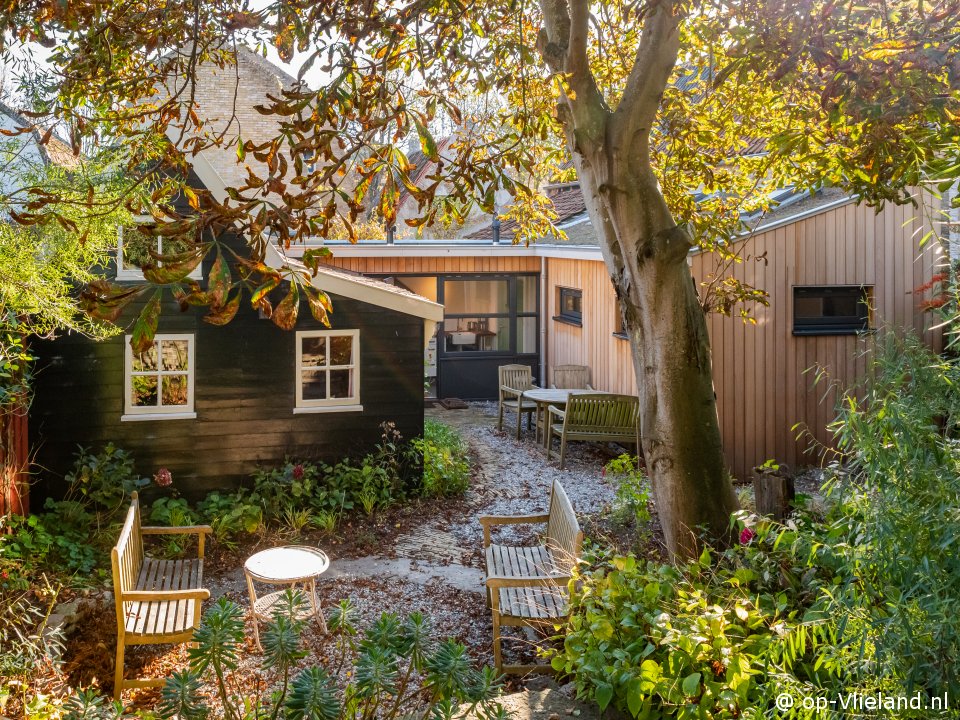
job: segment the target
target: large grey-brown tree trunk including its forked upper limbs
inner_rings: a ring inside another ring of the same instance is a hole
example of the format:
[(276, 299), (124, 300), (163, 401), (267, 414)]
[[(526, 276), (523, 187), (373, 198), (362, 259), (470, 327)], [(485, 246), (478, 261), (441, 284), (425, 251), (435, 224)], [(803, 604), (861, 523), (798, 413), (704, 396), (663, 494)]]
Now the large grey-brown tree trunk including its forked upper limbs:
[(646, 6), (615, 109), (591, 71), (586, 0), (541, 0), (537, 45), (568, 88), (557, 114), (630, 336), (641, 445), (664, 539), (672, 555), (691, 556), (702, 532), (729, 537), (737, 499), (720, 444), (707, 323), (687, 265), (693, 240), (670, 214), (650, 160), (682, 5)]

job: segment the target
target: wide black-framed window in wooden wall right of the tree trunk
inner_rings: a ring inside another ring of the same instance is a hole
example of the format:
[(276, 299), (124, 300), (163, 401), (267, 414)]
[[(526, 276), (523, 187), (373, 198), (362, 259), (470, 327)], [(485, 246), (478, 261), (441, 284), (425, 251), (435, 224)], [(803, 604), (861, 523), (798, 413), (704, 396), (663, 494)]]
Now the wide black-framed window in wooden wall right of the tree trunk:
[(794, 335), (853, 335), (870, 327), (870, 288), (826, 285), (793, 289)]

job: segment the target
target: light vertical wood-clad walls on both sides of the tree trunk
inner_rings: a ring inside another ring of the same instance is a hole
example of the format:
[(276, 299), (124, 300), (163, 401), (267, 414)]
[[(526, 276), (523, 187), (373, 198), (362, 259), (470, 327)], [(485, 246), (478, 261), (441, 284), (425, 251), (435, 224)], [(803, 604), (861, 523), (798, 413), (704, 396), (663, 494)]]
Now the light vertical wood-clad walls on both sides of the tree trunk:
[[(754, 306), (756, 324), (739, 317), (708, 316), (714, 386), (727, 462), (747, 479), (773, 458), (791, 465), (819, 462), (810, 451), (829, 444), (837, 388), (866, 368), (862, 351), (870, 336), (793, 334), (793, 288), (802, 285), (864, 285), (874, 306), (871, 327), (908, 328), (939, 346), (933, 318), (919, 309), (913, 289), (927, 282), (942, 261), (939, 245), (919, 249), (930, 229), (911, 206), (880, 213), (846, 203), (796, 222), (774, 226), (741, 241), (743, 262), (727, 271), (770, 293), (770, 307)], [(692, 257), (698, 284), (717, 271), (711, 254)], [(547, 362), (593, 368), (600, 390), (636, 392), (630, 345), (613, 335), (616, 299), (602, 262), (548, 258)], [(557, 288), (583, 291), (582, 327), (551, 320), (558, 315)], [(814, 386), (816, 368), (831, 382)], [(791, 428), (803, 424), (809, 435)], [(815, 441), (815, 442), (814, 442)]]

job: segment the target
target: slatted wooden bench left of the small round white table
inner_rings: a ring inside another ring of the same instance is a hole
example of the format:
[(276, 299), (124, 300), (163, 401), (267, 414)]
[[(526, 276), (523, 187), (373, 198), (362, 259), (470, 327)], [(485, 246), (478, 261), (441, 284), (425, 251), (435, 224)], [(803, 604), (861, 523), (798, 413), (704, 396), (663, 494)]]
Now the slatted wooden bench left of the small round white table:
[[(203, 542), (211, 529), (190, 527), (143, 527), (140, 501), (133, 493), (127, 518), (111, 552), (113, 594), (117, 608), (117, 667), (113, 697), (127, 688), (156, 687), (164, 678), (124, 680), (123, 655), (127, 645), (188, 642), (200, 624), (200, 605), (210, 597), (203, 588)], [(158, 560), (144, 554), (144, 535), (198, 536), (197, 557)]]

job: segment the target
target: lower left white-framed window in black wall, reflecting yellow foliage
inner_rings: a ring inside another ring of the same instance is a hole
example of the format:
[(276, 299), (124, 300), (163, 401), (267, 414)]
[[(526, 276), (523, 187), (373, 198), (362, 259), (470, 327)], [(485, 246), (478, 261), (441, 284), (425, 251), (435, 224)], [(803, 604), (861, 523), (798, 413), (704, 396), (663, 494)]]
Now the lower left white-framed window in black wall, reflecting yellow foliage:
[(134, 354), (124, 343), (123, 420), (193, 418), (193, 335), (157, 335)]

